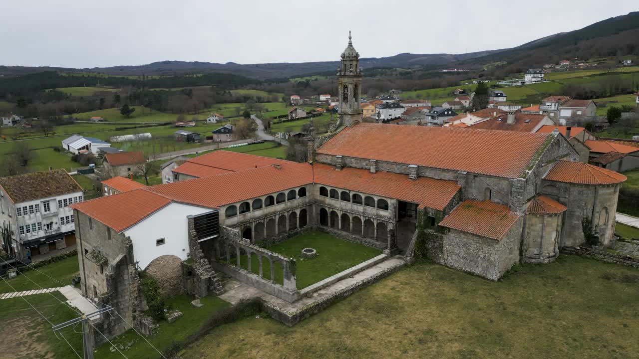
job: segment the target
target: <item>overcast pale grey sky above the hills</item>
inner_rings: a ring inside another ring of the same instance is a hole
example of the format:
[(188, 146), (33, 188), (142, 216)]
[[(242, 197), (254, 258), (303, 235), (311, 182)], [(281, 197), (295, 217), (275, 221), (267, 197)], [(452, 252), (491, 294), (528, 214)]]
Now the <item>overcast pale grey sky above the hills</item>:
[(639, 10), (599, 0), (0, 0), (0, 65), (332, 61), (502, 49)]

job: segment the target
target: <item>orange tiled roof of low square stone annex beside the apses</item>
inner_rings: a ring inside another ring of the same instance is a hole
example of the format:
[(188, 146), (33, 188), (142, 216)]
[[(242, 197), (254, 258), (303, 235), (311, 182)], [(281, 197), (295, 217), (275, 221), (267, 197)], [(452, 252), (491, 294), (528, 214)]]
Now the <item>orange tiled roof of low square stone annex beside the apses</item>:
[(477, 236), (501, 240), (519, 218), (508, 206), (491, 201), (461, 202), (439, 225)]

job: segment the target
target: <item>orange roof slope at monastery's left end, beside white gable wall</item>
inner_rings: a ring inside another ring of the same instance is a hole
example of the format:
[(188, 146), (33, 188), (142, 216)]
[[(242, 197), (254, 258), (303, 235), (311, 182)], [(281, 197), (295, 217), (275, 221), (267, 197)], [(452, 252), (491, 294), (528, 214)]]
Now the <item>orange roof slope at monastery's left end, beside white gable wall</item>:
[(171, 199), (163, 195), (139, 189), (79, 202), (71, 207), (95, 218), (119, 233), (166, 206), (169, 202)]

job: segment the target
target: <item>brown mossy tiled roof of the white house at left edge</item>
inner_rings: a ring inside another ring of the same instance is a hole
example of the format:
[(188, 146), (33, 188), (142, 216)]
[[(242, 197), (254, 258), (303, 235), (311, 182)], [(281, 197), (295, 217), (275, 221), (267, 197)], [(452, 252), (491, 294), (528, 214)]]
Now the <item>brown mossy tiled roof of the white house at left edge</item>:
[(14, 203), (82, 192), (82, 187), (66, 173), (65, 169), (2, 177), (0, 186)]

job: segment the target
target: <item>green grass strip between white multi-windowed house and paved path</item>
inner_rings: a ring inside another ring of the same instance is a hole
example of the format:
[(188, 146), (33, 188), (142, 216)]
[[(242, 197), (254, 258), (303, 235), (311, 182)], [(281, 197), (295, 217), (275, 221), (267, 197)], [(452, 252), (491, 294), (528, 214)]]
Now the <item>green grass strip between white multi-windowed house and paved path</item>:
[[(65, 284), (71, 284), (71, 278), (75, 273), (80, 271), (80, 266), (78, 264), (78, 257), (68, 257), (65, 259), (61, 259), (60, 261), (47, 264), (46, 266), (42, 266), (37, 268), (38, 271), (49, 275), (60, 282)], [(24, 274), (19, 274), (14, 279), (8, 279), (7, 282), (4, 280), (0, 280), (0, 293), (8, 293), (13, 292), (13, 287), (15, 291), (27, 291), (29, 289), (40, 289), (40, 287), (36, 286), (33, 282), (40, 284), (43, 288), (54, 288), (61, 287), (62, 284), (59, 284), (53, 279), (50, 279), (46, 275), (42, 273), (38, 273), (36, 270), (28, 270), (24, 272)], [(31, 282), (31, 280), (33, 282)], [(11, 285), (11, 287), (9, 286)], [(3, 300), (0, 300), (0, 309), (2, 308)], [(1, 312), (2, 310), (0, 310)]]

